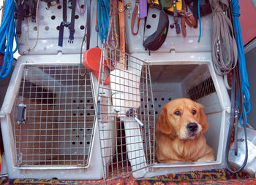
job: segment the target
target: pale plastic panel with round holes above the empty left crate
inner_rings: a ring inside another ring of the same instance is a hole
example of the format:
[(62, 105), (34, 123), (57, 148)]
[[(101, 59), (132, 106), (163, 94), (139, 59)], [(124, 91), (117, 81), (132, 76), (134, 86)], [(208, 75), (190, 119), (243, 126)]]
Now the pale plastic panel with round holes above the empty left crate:
[[(97, 1), (91, 1), (91, 47), (97, 46), (97, 32), (95, 31), (95, 20), (97, 15)], [(82, 2), (80, 5), (83, 5)], [(63, 47), (58, 46), (59, 42), (59, 25), (62, 21), (62, 1), (60, 4), (45, 8), (46, 3), (40, 1), (39, 4), (39, 39), (37, 47), (30, 52), (26, 51), (25, 46), (25, 33), (27, 28), (28, 19), (25, 18), (22, 23), (22, 34), (18, 39), (19, 42), (19, 53), (20, 55), (46, 55), (46, 54), (57, 54), (58, 52), (63, 53), (80, 53), (80, 47), (83, 40), (83, 35), (86, 27), (86, 13), (81, 16), (78, 13), (78, 9), (75, 12), (75, 39), (73, 44), (68, 43), (69, 29), (64, 28), (64, 40)], [(67, 21), (70, 21), (71, 9), (67, 8)], [(26, 36), (29, 47), (33, 47), (37, 39), (37, 24), (29, 23), (29, 32)], [(99, 40), (100, 43), (100, 40)], [(86, 44), (83, 44), (83, 52), (86, 50)]]

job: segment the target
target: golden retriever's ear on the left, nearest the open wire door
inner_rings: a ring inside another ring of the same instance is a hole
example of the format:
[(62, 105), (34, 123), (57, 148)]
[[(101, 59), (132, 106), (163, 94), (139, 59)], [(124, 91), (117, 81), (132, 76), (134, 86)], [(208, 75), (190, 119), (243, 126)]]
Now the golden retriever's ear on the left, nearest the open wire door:
[(172, 127), (167, 118), (167, 108), (166, 106), (162, 107), (161, 114), (159, 116), (157, 127), (162, 133), (170, 134), (172, 132)]

